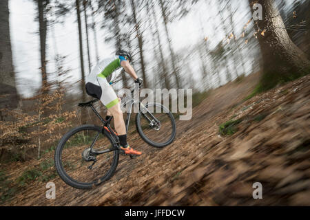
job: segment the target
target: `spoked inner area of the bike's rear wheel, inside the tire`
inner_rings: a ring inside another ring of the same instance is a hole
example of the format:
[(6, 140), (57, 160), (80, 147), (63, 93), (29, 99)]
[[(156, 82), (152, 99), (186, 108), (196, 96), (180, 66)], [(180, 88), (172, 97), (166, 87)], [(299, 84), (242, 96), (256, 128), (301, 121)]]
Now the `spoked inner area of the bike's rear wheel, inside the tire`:
[[(65, 142), (61, 152), (61, 164), (66, 175), (74, 181), (86, 184), (100, 182), (114, 162), (114, 151), (96, 154), (112, 147), (110, 140), (101, 131), (82, 130), (74, 133)], [(93, 164), (93, 166), (92, 166)]]

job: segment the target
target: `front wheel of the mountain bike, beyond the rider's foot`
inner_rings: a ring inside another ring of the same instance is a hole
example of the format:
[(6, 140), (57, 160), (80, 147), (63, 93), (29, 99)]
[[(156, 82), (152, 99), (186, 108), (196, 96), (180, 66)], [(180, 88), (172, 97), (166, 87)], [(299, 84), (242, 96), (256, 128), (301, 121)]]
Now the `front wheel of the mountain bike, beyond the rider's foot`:
[(142, 139), (152, 146), (163, 148), (176, 137), (174, 115), (162, 104), (141, 104), (136, 114), (136, 129)]

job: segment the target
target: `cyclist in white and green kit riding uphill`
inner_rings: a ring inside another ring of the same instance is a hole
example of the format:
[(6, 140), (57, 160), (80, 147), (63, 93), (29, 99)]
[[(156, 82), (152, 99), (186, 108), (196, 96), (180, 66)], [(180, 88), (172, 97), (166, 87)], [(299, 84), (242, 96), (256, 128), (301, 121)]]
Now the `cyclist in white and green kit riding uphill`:
[(132, 65), (130, 65), (130, 61), (132, 61), (132, 56), (125, 50), (118, 50), (114, 57), (99, 61), (92, 69), (92, 72), (86, 77), (85, 90), (88, 95), (100, 99), (105, 105), (107, 108), (106, 120), (111, 117), (110, 115), (113, 115), (114, 127), (121, 144), (121, 149), (124, 153), (129, 155), (141, 155), (142, 153), (140, 151), (135, 151), (127, 143), (125, 122), (123, 112), (121, 111), (121, 99), (116, 96), (111, 86), (113, 79), (116, 78), (116, 70), (122, 67), (127, 74), (130, 74), (135, 83), (142, 85), (143, 80), (136, 76), (136, 72)]

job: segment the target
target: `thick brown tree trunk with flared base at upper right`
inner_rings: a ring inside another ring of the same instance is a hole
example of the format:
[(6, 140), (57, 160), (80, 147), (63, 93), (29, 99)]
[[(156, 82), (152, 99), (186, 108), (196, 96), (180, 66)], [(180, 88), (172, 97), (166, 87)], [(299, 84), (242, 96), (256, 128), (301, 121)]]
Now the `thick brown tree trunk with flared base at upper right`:
[(254, 24), (263, 59), (260, 90), (309, 74), (310, 62), (289, 38), (274, 0), (249, 0), (252, 12), (253, 3), (262, 5), (262, 20)]

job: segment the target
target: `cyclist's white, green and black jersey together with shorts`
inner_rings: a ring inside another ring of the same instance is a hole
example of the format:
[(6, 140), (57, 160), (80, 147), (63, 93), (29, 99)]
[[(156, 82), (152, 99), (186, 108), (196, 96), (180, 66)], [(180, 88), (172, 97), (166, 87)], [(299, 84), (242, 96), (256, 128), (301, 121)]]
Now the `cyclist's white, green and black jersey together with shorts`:
[(88, 95), (98, 98), (109, 109), (118, 103), (114, 89), (109, 83), (121, 72), (123, 56), (114, 56), (99, 61), (86, 77), (85, 89)]

